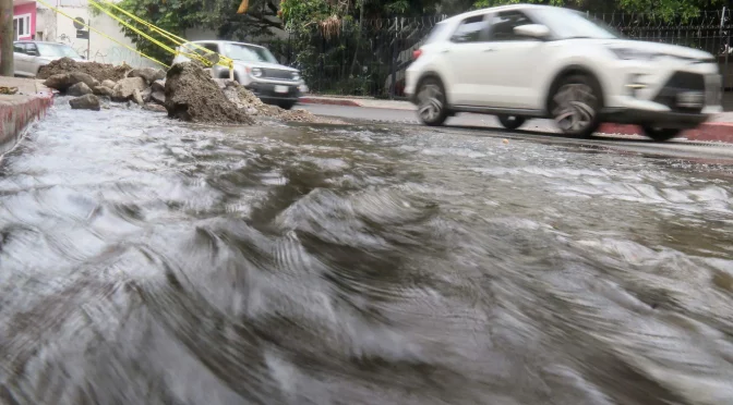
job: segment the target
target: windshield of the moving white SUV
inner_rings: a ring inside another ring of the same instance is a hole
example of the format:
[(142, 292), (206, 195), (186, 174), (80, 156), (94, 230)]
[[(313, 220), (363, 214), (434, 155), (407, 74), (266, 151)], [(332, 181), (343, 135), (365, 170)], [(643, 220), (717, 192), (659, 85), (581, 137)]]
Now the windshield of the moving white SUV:
[(548, 8), (538, 10), (536, 15), (561, 39), (621, 37), (604, 23), (574, 10)]

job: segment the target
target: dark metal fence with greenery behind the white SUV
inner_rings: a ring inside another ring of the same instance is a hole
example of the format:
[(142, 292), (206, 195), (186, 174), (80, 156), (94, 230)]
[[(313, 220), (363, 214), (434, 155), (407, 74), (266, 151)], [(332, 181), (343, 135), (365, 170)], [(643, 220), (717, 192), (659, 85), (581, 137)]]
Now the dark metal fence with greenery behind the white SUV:
[[(733, 75), (728, 70), (733, 34), (730, 10), (702, 12), (685, 21), (669, 21), (654, 14), (591, 16), (628, 38), (708, 51), (719, 59), (724, 87), (733, 87)], [(298, 66), (313, 93), (400, 98), (412, 51), (444, 17), (344, 21), (262, 45), (268, 46), (283, 63)]]

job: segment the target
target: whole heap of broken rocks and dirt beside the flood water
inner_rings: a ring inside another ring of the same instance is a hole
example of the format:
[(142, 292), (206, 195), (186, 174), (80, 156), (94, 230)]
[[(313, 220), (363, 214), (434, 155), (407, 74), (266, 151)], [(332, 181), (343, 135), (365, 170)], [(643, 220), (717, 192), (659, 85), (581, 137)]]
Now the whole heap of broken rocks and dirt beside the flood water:
[(124, 64), (79, 63), (64, 58), (41, 69), (38, 77), (46, 79), (46, 86), (76, 97), (70, 100), (74, 109), (99, 111), (99, 106), (112, 101), (132, 102), (146, 111), (201, 123), (254, 124), (259, 119), (340, 123), (308, 111), (266, 105), (237, 82), (212, 78), (196, 62), (179, 63), (166, 72)]

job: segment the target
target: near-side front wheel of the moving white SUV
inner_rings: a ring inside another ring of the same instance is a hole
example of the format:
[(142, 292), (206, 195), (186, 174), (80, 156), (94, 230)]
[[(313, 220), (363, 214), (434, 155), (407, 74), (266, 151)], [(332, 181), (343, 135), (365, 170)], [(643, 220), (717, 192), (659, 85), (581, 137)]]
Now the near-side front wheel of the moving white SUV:
[(602, 95), (598, 82), (585, 74), (561, 78), (551, 93), (549, 111), (566, 135), (589, 137), (601, 125)]

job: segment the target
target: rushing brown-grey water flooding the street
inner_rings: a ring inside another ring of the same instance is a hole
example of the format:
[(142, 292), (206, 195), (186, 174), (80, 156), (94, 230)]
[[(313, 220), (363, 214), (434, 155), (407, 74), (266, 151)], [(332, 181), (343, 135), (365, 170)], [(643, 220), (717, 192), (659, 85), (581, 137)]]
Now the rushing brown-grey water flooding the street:
[(0, 172), (0, 404), (733, 404), (733, 167), (57, 108)]

